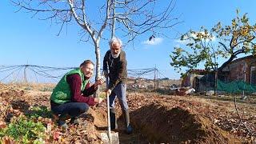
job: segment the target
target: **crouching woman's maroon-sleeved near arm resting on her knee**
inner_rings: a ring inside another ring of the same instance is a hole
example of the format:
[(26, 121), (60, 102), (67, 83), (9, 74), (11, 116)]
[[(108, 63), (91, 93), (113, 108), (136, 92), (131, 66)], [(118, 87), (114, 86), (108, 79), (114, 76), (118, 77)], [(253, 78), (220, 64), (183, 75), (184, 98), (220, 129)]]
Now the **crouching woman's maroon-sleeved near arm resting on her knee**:
[(94, 98), (82, 96), (81, 94), (82, 79), (79, 74), (68, 75), (66, 77), (66, 81), (70, 85), (72, 102), (86, 102), (90, 106), (93, 106), (95, 104)]

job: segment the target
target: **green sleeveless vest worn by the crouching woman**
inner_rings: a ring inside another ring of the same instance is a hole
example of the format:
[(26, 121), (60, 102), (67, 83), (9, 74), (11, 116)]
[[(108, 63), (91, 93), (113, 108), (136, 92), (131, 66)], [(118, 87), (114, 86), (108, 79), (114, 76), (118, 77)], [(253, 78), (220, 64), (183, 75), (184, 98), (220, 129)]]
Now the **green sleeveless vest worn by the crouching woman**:
[(71, 90), (70, 85), (66, 82), (66, 76), (70, 74), (79, 74), (82, 79), (81, 91), (85, 90), (86, 84), (89, 82), (89, 79), (85, 79), (85, 75), (82, 73), (81, 69), (74, 69), (70, 72), (66, 73), (62, 79), (58, 82), (57, 86), (55, 86), (53, 93), (50, 96), (50, 100), (58, 103), (63, 104), (66, 102), (71, 102)]

